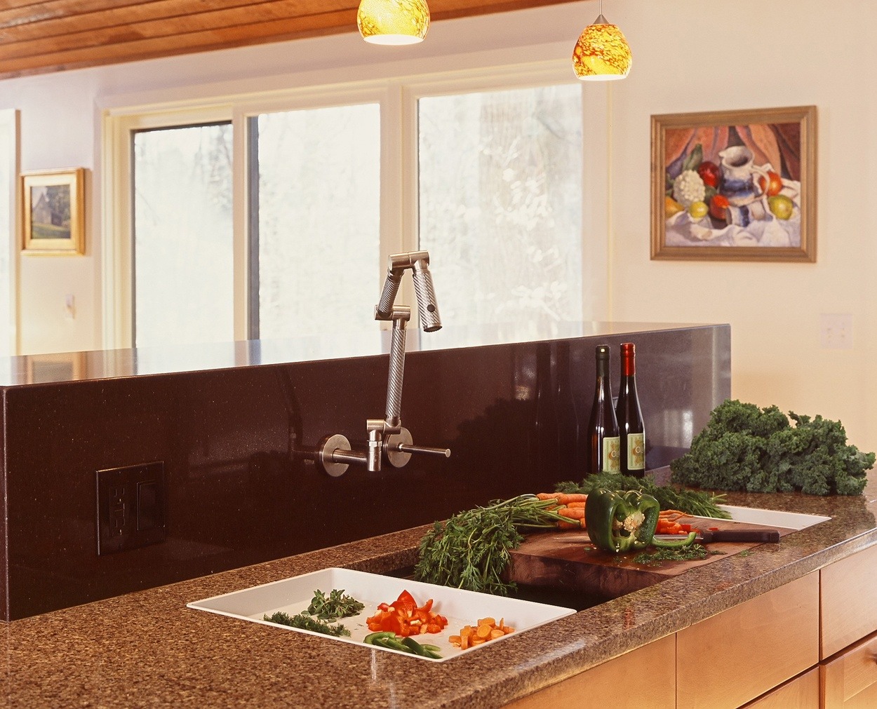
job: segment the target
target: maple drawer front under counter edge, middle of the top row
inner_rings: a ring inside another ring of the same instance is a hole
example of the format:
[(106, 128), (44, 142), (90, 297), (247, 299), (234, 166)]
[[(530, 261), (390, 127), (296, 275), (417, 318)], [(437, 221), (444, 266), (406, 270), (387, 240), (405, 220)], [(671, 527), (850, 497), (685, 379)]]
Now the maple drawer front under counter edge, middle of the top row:
[(680, 630), (677, 705), (743, 705), (818, 662), (819, 572), (813, 571)]

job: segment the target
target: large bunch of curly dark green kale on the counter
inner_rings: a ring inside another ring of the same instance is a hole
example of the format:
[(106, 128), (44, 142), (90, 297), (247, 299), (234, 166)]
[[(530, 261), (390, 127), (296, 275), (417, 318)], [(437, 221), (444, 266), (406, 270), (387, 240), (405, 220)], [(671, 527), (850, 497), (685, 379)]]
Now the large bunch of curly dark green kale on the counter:
[(874, 454), (846, 442), (837, 421), (729, 399), (713, 409), (691, 450), (670, 464), (672, 480), (708, 490), (858, 495)]

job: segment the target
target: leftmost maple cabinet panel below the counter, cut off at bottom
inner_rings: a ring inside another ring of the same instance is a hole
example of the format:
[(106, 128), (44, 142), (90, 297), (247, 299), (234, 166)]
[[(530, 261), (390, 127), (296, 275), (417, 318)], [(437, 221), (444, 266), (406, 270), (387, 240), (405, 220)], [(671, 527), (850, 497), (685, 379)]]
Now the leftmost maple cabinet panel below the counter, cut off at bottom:
[(676, 636), (598, 664), (590, 670), (518, 699), (507, 709), (607, 706), (612, 709), (674, 709)]

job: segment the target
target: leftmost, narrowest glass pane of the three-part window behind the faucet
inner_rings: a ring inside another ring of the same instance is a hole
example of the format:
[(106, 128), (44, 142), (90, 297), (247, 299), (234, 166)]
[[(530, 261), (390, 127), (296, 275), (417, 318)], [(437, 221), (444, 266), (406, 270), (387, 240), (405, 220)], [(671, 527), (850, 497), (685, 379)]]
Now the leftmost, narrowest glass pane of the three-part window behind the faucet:
[(135, 346), (234, 339), (232, 125), (137, 131)]

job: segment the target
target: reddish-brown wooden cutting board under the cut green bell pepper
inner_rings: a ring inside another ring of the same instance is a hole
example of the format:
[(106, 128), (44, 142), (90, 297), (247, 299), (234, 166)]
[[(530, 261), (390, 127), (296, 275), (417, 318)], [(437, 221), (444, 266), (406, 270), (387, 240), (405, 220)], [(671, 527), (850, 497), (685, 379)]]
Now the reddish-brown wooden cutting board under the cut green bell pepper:
[[(781, 537), (795, 531), (703, 517), (686, 517), (680, 521), (703, 529), (779, 529)], [(697, 566), (752, 549), (757, 543), (710, 542), (704, 546), (709, 551), (721, 553), (695, 561), (666, 561), (651, 566), (633, 562), (638, 552), (610, 554), (591, 548), (588, 533), (583, 530), (541, 532), (528, 535), (520, 548), (511, 552), (507, 574), (509, 580), (517, 584), (553, 586), (603, 598), (617, 598)]]

